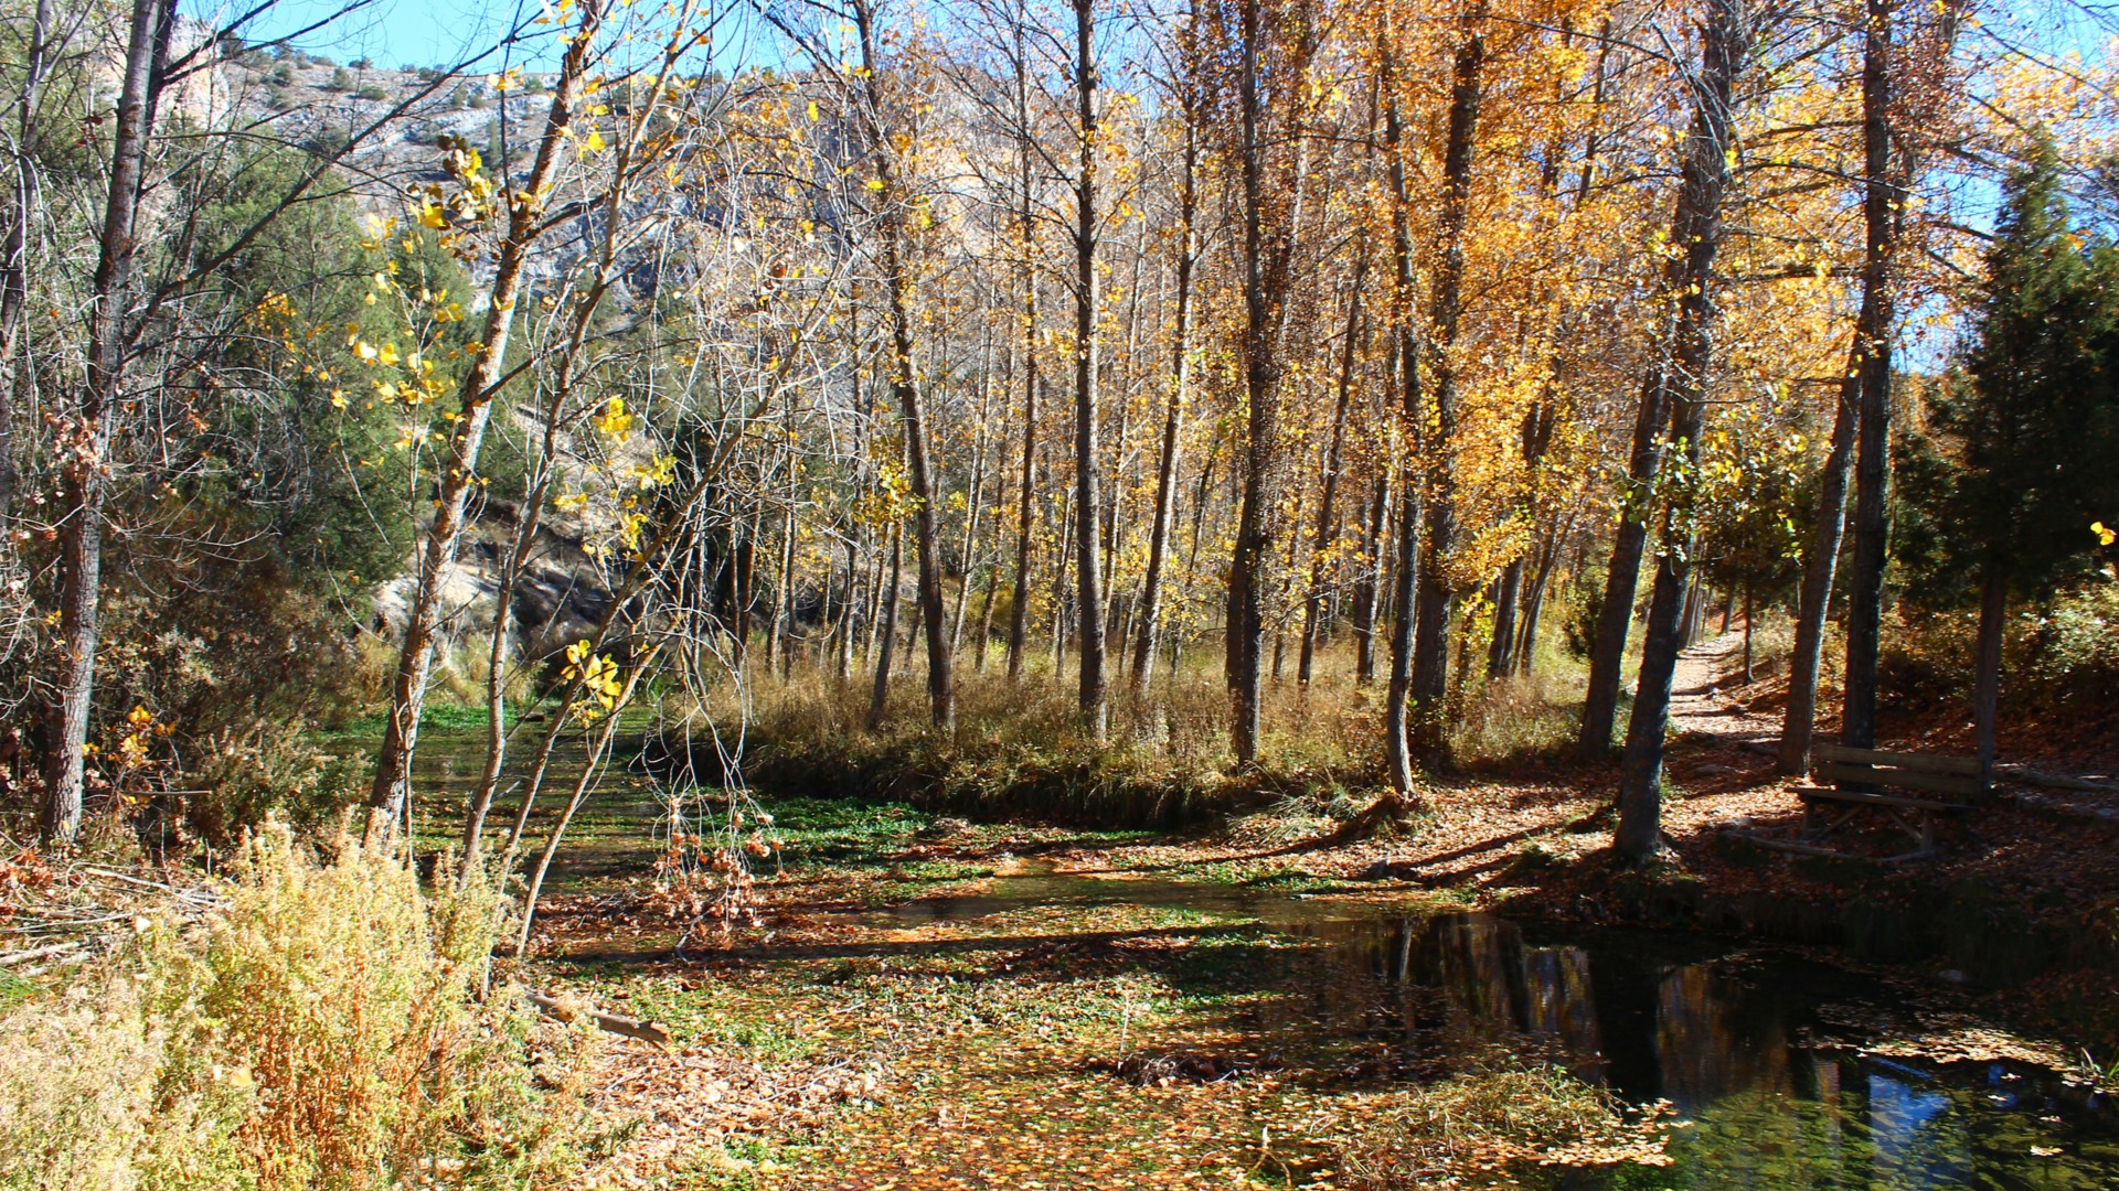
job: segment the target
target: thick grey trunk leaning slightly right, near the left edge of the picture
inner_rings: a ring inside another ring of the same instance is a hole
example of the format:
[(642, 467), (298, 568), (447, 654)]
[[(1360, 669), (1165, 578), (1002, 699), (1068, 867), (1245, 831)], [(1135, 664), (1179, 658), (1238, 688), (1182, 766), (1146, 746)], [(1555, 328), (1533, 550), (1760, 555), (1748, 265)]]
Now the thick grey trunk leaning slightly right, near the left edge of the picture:
[(110, 193), (89, 290), (89, 360), (81, 407), (61, 428), (59, 468), (59, 682), (51, 754), (44, 759), (47, 843), (72, 843), (81, 831), (81, 793), (89, 714), (95, 701), (97, 608), (104, 574), (104, 468), (125, 377), (125, 309), (138, 248), (140, 193), (161, 66), (170, 57), (176, 0), (133, 0), (125, 78), (110, 136)]

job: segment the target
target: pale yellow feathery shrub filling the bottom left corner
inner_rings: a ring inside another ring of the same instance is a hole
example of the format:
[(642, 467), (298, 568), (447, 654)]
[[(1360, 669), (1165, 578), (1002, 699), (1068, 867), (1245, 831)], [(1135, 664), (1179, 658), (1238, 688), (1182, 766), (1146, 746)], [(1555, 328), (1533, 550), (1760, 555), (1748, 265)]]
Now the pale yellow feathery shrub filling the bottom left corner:
[(589, 1036), (477, 1000), (498, 882), (284, 824), (199, 924), (146, 916), (0, 1017), (0, 1187), (519, 1187), (570, 1159)]

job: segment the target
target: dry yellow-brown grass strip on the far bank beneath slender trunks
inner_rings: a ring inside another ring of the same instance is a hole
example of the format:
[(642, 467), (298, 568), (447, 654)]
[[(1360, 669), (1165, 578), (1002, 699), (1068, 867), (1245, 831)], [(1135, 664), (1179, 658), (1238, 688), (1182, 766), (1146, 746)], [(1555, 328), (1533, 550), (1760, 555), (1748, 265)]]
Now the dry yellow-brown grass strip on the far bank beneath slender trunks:
[[(1549, 651), (1557, 655), (1560, 651)], [(1382, 786), (1379, 685), (1356, 685), (1350, 659), (1320, 657), (1310, 687), (1265, 687), (1259, 761), (1229, 757), (1229, 697), (1216, 665), (1191, 663), (1132, 693), (1112, 680), (1106, 742), (1085, 731), (1066, 676), (1043, 665), (1021, 680), (964, 668), (954, 735), (930, 729), (924, 682), (903, 674), (871, 721), (871, 685), (797, 665), (723, 689), (695, 718), (746, 723), (742, 778), (776, 795), (907, 801), (979, 818), (1026, 816), (1096, 826), (1185, 826), (1265, 807), (1358, 814)], [(1517, 765), (1572, 750), (1577, 674), (1551, 661), (1460, 695), (1452, 733), (1464, 767)], [(678, 716), (693, 718), (693, 716)], [(682, 748), (682, 746), (678, 746)], [(695, 776), (725, 780), (701, 737)]]

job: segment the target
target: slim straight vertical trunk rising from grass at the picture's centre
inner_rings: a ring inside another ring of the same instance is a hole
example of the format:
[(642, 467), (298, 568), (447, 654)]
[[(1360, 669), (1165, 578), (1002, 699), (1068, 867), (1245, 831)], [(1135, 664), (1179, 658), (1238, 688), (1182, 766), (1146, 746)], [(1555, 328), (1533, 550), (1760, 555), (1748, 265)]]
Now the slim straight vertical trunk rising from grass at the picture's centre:
[(1104, 500), (1100, 492), (1102, 456), (1098, 449), (1098, 307), (1102, 278), (1096, 271), (1096, 0), (1074, 0), (1074, 119), (1079, 148), (1074, 174), (1074, 602), (1081, 627), (1081, 718), (1089, 737), (1102, 744), (1110, 735), (1110, 708), (1104, 701), (1104, 564), (1098, 528)]

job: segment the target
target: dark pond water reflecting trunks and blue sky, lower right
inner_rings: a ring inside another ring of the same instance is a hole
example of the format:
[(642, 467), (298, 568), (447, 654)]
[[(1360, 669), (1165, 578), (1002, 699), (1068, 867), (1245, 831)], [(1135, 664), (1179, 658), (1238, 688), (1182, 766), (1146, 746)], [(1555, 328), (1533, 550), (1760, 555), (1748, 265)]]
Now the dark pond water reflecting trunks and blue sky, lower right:
[(2053, 1072), (1922, 1070), (1814, 1043), (1820, 1005), (1884, 996), (1822, 964), (1661, 937), (1532, 939), (1473, 913), (1284, 928), (1326, 943), (1322, 988), (1295, 1013), (1392, 1045), (1399, 1070), (1447, 1070), (1498, 1043), (1691, 1121), (1672, 1168), (1570, 1187), (2119, 1187), (2119, 1121)]

